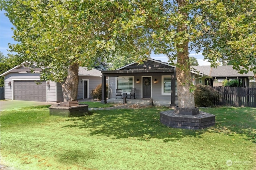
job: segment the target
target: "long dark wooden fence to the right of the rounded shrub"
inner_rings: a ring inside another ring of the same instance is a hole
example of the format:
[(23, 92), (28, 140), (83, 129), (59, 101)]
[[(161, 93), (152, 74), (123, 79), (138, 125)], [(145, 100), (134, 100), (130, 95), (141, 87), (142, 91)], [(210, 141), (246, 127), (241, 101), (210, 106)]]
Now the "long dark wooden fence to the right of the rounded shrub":
[(256, 107), (256, 88), (214, 87), (219, 97), (214, 105)]

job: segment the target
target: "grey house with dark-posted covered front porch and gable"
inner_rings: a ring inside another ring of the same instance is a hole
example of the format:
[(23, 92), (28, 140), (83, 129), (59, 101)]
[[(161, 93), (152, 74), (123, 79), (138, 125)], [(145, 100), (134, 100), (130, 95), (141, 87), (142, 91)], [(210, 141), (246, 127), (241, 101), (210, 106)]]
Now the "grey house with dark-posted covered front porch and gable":
[[(191, 71), (191, 75), (193, 80), (200, 77), (212, 78), (194, 71)], [(116, 70), (102, 71), (102, 84), (106, 84), (106, 79), (109, 84), (108, 102), (116, 99), (116, 89), (122, 89), (122, 93), (129, 94), (132, 88), (136, 88), (137, 100), (153, 98), (154, 103), (165, 100), (168, 103), (164, 105), (176, 104), (176, 67), (168, 63), (154, 59), (148, 59), (143, 64), (134, 62)], [(102, 94), (102, 103), (107, 102), (105, 97)]]

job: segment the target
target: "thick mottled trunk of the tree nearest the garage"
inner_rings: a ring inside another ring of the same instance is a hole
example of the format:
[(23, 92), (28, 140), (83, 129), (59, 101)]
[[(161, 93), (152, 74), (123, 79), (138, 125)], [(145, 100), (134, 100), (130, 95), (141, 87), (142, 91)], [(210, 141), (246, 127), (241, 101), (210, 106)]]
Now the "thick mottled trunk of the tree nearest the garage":
[(68, 76), (66, 81), (62, 84), (64, 102), (77, 100), (79, 82), (78, 68), (78, 64), (72, 64), (68, 67)]

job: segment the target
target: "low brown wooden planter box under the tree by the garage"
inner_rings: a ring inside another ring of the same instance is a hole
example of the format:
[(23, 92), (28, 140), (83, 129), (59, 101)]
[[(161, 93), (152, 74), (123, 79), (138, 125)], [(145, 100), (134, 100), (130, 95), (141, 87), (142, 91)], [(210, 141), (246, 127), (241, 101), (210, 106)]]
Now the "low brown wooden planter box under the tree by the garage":
[(52, 105), (49, 107), (50, 115), (62, 116), (62, 117), (76, 117), (88, 115), (88, 105), (81, 104), (78, 106), (60, 106), (60, 105)]

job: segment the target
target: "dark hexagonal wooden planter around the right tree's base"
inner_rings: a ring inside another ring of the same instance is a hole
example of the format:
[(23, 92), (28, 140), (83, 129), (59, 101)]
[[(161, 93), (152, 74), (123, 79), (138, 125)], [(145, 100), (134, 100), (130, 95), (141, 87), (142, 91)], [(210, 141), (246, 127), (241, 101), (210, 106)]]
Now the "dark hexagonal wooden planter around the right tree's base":
[[(174, 110), (160, 112), (160, 122), (168, 127), (181, 129), (204, 129), (215, 125), (215, 115), (203, 111), (185, 111), (184, 114)], [(198, 113), (198, 114), (197, 114)]]

